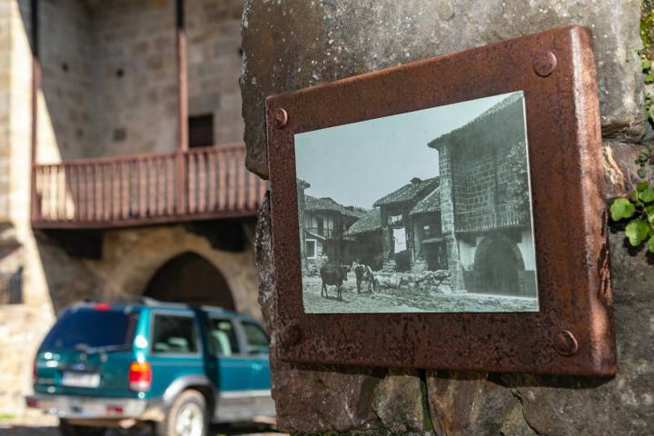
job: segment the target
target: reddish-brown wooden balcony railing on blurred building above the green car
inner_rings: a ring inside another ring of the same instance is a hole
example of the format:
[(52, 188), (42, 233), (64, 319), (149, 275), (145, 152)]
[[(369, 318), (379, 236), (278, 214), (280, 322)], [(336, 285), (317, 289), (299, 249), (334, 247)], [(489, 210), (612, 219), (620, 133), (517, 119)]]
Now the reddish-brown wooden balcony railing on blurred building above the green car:
[(35, 228), (110, 228), (255, 216), (267, 183), (243, 144), (36, 164)]

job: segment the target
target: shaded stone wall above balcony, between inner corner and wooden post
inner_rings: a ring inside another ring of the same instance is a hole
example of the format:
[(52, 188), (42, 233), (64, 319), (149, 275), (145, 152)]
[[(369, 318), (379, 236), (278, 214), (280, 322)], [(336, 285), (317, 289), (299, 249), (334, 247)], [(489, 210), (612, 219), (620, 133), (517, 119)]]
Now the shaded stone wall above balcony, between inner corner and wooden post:
[(87, 156), (172, 152), (177, 144), (173, 0), (102, 2), (94, 36), (94, 144)]

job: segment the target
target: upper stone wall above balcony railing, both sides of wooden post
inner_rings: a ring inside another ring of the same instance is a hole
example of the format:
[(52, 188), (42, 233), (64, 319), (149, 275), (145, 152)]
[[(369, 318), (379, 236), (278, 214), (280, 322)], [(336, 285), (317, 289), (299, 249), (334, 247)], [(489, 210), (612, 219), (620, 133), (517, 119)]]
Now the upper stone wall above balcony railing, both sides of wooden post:
[[(241, 2), (185, 5), (189, 114), (213, 114), (214, 144), (240, 142)], [(41, 9), (39, 161), (174, 151), (174, 1), (45, 0)]]

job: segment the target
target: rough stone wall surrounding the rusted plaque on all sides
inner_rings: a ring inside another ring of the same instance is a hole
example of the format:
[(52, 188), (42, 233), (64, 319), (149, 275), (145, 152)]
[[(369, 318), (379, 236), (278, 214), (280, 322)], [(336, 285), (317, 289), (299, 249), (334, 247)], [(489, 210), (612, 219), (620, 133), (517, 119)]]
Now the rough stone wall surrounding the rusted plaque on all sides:
[[(637, 55), (639, 6), (636, 0), (246, 1), (241, 84), (248, 166), (268, 174), (266, 95), (580, 24), (588, 25), (595, 38), (608, 187), (609, 193), (620, 193), (634, 177), (639, 144), (633, 143), (646, 127)], [(451, 171), (441, 168), (441, 175), (443, 170)], [(446, 193), (441, 184), (441, 195)], [(452, 211), (442, 213), (447, 231)], [(281, 362), (270, 243), (265, 203), (257, 231), (260, 301), (273, 337), (272, 392), (283, 430), (451, 436), (654, 433), (654, 281), (644, 253), (624, 248), (623, 233), (610, 235), (619, 370), (608, 379)]]

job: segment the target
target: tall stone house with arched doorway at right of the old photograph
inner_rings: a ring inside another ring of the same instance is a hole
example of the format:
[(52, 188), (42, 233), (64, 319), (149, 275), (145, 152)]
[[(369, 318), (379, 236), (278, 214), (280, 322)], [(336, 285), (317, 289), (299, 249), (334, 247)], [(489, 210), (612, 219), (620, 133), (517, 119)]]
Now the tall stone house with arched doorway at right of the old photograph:
[(516, 93), (429, 144), (439, 152), (441, 232), (457, 289), (536, 294), (525, 141)]

